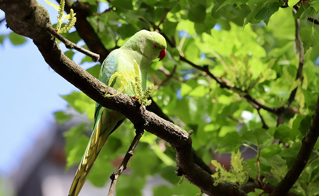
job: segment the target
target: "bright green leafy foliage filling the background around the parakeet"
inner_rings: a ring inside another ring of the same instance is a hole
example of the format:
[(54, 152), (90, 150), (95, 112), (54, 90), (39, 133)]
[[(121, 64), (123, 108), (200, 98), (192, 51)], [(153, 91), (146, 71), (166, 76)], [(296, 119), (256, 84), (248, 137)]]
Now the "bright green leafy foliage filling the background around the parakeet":
[[(81, 1), (90, 5), (87, 20), (106, 49), (122, 46), (140, 29), (159, 30), (166, 35), (167, 55), (162, 61), (153, 62), (148, 73), (148, 84), (157, 87), (152, 98), (174, 123), (194, 131), (193, 148), (216, 168), (215, 184), (225, 180), (245, 184), (248, 176), (252, 179), (261, 176), (263, 183), (276, 186), (283, 179), (308, 131), (319, 94), (319, 25), (307, 20), (318, 19), (319, 0), (297, 5), (299, 0), (289, 0), (288, 4), (278, 0)], [(104, 12), (109, 6), (112, 9)], [(293, 6), (298, 8), (295, 15)], [(300, 19), (304, 50), (299, 79), (296, 75), (300, 49), (294, 43), (296, 19)], [(76, 31), (63, 36), (75, 43), (81, 39)], [(66, 52), (71, 59), (73, 54)], [(181, 57), (207, 68), (229, 89)], [(83, 62), (92, 63), (88, 57)], [(97, 77), (100, 65), (94, 66), (88, 72)], [(130, 74), (115, 76), (126, 78)], [(134, 86), (136, 80), (129, 81), (126, 85), (131, 84), (140, 97), (142, 94)], [(295, 100), (288, 104), (295, 88)], [(276, 113), (256, 109), (245, 98), (247, 93), (270, 108), (289, 106), (284, 123), (277, 126)], [(87, 145), (84, 133), (92, 126), (95, 103), (79, 92), (63, 98), (69, 107), (86, 113), (91, 120), (65, 133), (67, 166), (71, 167), (80, 162)], [(70, 119), (64, 112), (55, 115), (58, 123)], [(105, 185), (109, 174), (117, 169), (111, 162), (127, 151), (133, 136), (133, 125), (128, 121), (109, 136), (88, 177), (94, 185)], [(310, 157), (313, 159), (292, 187), (292, 193), (319, 194), (318, 148), (317, 142)], [(231, 158), (222, 160), (217, 152), (231, 153)], [(230, 170), (221, 161), (231, 165)], [(154, 187), (154, 196), (198, 194), (198, 188), (187, 181), (179, 183), (179, 177), (174, 175), (177, 169), (174, 162), (175, 152), (170, 145), (145, 133), (128, 164), (130, 174), (120, 177), (117, 194), (140, 196), (148, 177), (158, 175), (165, 183)], [(248, 195), (266, 194), (255, 189)]]

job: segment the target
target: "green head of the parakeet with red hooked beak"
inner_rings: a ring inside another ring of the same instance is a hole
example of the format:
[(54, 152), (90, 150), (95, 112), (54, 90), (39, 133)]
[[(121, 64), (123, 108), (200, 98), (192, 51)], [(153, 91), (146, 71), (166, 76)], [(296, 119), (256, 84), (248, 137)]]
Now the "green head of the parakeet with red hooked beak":
[[(166, 55), (166, 40), (158, 32), (140, 30), (133, 37), (142, 55), (150, 60), (160, 58), (162, 60)], [(131, 39), (132, 39), (131, 38)]]

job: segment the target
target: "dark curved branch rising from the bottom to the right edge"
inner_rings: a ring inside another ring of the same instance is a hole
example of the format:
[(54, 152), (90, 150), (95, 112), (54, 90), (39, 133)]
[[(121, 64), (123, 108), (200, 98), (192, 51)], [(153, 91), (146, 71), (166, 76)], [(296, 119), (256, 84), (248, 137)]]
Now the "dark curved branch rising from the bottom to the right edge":
[(283, 196), (288, 193), (292, 185), (298, 179), (309, 160), (310, 154), (319, 137), (319, 97), (316, 104), (315, 113), (312, 116), (312, 121), (308, 133), (302, 138), (302, 145), (292, 167), (289, 169), (284, 179), (278, 184), (269, 196)]

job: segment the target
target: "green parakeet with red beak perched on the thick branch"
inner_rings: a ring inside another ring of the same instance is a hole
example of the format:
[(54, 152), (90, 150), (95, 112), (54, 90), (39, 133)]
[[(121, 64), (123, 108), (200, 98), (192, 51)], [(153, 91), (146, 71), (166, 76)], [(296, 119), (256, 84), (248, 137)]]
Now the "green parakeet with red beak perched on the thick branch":
[[(104, 60), (99, 80), (108, 84), (115, 72), (133, 71), (133, 61), (139, 66), (142, 88), (146, 88), (146, 76), (151, 62), (156, 58), (162, 60), (166, 54), (165, 38), (157, 32), (141, 30), (133, 35), (121, 48), (113, 50)], [(115, 79), (111, 87), (118, 89), (120, 79)], [(132, 92), (125, 87), (123, 93), (132, 96)], [(131, 93), (131, 94), (130, 94)], [(78, 171), (72, 182), (69, 196), (78, 196), (80, 190), (108, 136), (123, 123), (125, 117), (113, 110), (96, 103), (94, 128), (80, 162)]]

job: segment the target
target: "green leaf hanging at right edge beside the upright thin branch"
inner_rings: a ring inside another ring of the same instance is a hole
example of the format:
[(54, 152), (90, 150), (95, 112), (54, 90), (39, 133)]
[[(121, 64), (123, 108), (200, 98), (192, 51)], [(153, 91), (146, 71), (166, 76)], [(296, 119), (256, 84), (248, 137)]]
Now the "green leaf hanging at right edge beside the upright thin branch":
[(310, 47), (316, 47), (319, 45), (319, 33), (318, 31), (312, 26), (312, 27), (303, 27), (300, 30), (300, 38), (302, 41), (304, 53)]

